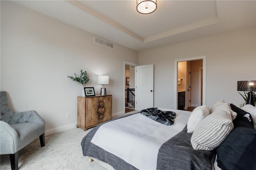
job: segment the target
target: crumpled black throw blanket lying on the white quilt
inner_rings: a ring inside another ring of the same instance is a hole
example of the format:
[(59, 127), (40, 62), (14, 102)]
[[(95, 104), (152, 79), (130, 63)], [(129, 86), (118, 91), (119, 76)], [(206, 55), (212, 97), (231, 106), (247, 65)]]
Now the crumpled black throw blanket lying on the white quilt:
[(172, 111), (161, 111), (157, 108), (148, 108), (140, 111), (142, 115), (162, 123), (164, 125), (172, 125), (174, 123), (174, 118), (176, 117), (176, 113)]

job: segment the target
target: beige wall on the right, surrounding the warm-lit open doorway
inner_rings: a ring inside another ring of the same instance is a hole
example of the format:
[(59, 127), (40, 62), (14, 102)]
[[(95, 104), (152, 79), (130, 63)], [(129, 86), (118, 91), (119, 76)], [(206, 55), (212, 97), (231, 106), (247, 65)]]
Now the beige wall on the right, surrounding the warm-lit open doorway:
[(154, 64), (154, 107), (174, 106), (174, 60), (206, 55), (206, 105), (239, 105), (237, 81), (256, 79), (255, 27), (139, 52), (139, 64)]

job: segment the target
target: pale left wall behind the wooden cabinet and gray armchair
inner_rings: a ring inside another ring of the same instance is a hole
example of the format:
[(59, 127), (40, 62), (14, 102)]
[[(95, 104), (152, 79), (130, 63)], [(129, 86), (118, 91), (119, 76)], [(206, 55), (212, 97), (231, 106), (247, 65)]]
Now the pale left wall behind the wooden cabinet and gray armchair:
[[(114, 43), (94, 43), (94, 35), (10, 1), (1, 1), (1, 91), (14, 111), (36, 110), (46, 134), (75, 127), (82, 85), (67, 76), (86, 70), (96, 95), (98, 75), (109, 75), (112, 113), (122, 113), (123, 63), (138, 63), (138, 52)], [(66, 114), (70, 113), (70, 119)]]

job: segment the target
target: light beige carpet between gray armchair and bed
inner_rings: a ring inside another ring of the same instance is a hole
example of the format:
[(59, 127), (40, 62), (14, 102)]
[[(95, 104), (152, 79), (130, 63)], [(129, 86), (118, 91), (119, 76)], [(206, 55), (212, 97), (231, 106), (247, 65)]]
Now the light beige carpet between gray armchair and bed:
[[(72, 128), (45, 136), (44, 147), (38, 137), (19, 151), (19, 170), (106, 170), (82, 154), (80, 143), (90, 130)], [(1, 155), (0, 169), (11, 169), (9, 155)]]

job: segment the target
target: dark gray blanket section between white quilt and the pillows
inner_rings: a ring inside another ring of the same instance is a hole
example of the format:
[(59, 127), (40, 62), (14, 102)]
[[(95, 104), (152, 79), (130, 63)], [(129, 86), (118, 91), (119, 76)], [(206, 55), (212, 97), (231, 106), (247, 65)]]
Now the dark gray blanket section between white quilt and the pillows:
[(214, 152), (194, 150), (187, 133), (187, 126), (160, 147), (157, 156), (157, 170), (212, 170)]

